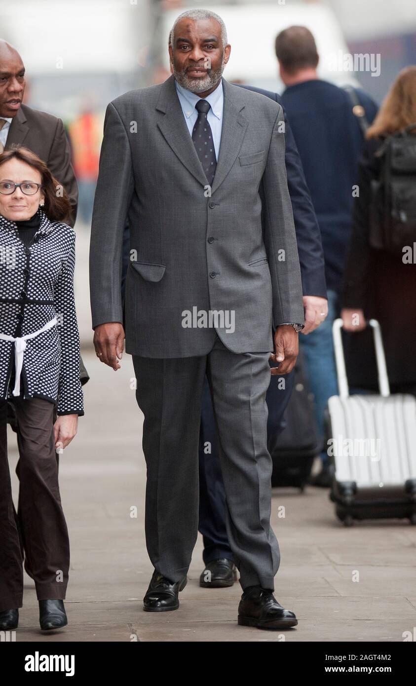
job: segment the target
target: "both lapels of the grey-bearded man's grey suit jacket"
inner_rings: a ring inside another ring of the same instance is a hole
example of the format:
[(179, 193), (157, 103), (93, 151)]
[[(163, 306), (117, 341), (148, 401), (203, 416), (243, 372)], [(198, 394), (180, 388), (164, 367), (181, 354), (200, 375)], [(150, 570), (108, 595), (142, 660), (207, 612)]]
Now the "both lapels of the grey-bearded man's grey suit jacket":
[[(238, 91), (241, 88), (230, 86), (222, 79), (224, 91), (224, 110), (222, 116), (222, 131), (220, 154), (218, 156), (216, 174), (213, 178), (211, 193), (216, 191), (233, 166), (246, 133), (248, 121), (242, 115), (244, 102), (240, 101)], [(168, 145), (183, 165), (203, 186), (208, 185), (207, 177), (196, 154), (194, 143), (189, 135), (185, 117), (178, 95), (176, 94), (174, 76), (170, 76), (162, 86), (161, 95), (157, 103), (157, 110), (165, 113), (158, 122), (159, 129)]]

